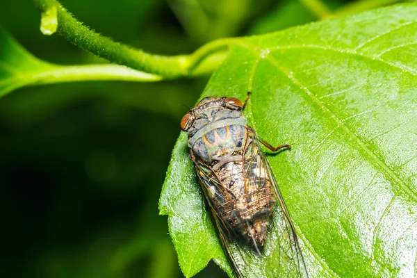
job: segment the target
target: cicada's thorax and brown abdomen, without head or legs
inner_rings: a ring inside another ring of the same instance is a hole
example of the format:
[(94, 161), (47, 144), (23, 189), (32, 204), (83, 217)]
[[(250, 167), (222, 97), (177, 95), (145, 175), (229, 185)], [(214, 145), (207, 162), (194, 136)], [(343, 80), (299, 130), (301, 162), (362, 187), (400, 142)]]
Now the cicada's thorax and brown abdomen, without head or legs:
[(275, 198), (265, 169), (252, 155), (254, 133), (241, 111), (196, 107), (188, 145), (208, 203), (229, 238), (259, 251)]

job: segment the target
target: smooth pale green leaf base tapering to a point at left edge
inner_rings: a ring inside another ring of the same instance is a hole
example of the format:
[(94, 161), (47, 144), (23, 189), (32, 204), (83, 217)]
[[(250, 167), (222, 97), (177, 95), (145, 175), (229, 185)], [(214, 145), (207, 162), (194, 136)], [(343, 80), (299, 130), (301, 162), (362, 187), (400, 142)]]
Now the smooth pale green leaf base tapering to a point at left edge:
[(90, 80), (158, 81), (160, 76), (121, 65), (54, 65), (19, 45), (0, 27), (0, 97), (26, 85)]

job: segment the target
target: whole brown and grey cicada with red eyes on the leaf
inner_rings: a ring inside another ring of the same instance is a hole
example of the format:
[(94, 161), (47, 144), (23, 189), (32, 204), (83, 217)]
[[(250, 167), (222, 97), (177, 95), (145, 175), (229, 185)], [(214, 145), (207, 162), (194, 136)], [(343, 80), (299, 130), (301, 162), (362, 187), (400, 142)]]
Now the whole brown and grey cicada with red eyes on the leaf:
[(205, 97), (181, 120), (190, 158), (236, 277), (308, 277), (293, 221), (261, 144), (234, 97)]

